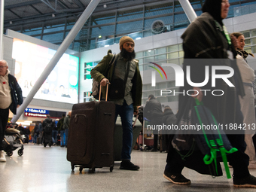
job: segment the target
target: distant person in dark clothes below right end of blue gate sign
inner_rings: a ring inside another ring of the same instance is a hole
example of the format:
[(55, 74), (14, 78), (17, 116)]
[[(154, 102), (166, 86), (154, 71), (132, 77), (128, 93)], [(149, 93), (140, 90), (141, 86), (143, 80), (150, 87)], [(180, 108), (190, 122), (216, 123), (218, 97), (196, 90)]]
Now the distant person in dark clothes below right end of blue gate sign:
[(47, 118), (43, 122), (44, 127), (44, 148), (48, 144), (49, 147), (52, 145), (52, 131), (53, 131), (53, 120), (50, 118), (50, 114), (47, 114)]

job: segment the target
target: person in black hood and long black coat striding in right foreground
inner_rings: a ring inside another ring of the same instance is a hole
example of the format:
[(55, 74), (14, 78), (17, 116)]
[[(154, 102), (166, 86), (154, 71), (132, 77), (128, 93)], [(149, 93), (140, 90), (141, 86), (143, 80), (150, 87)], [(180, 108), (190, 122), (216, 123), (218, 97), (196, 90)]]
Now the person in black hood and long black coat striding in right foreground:
[[(234, 69), (234, 75), (229, 80), (235, 87), (228, 87), (227, 84), (218, 81), (215, 89), (225, 90), (224, 96), (212, 96), (211, 94), (205, 96), (200, 89), (211, 90), (211, 84), (206, 84), (206, 86), (199, 88), (191, 87), (187, 84), (187, 81), (184, 81), (184, 87), (181, 87), (181, 90), (197, 90), (198, 94), (195, 93), (193, 97), (203, 101), (204, 105), (212, 111), (212, 114), (214, 114), (219, 123), (241, 124), (242, 113), (240, 111), (238, 95), (244, 96), (245, 93), (239, 69), (236, 66), (236, 62), (231, 60), (236, 57), (236, 51), (233, 47), (235, 39), (230, 39), (222, 23), (222, 20), (227, 17), (229, 7), (228, 0), (206, 0), (203, 5), (203, 14), (197, 17), (187, 27), (184, 34), (181, 35), (184, 50), (183, 69), (184, 74), (186, 74), (185, 69), (186, 66), (190, 66), (191, 59), (223, 59), (224, 63), (221, 63), (221, 66), (226, 65)], [(209, 63), (207, 64), (210, 65)], [(193, 63), (193, 66), (191, 65), (190, 67), (191, 81), (203, 82), (205, 79), (205, 66)], [(181, 119), (189, 98), (190, 96), (187, 95), (179, 95), (177, 122)], [(256, 187), (256, 178), (248, 172), (248, 156), (244, 153), (246, 146), (244, 135), (233, 134), (227, 135), (227, 137), (231, 145), (238, 149), (238, 151), (229, 154), (227, 157), (230, 165), (233, 166), (234, 186)], [(180, 154), (175, 151), (172, 145), (169, 145), (169, 153), (166, 159), (167, 164), (163, 173), (164, 178), (175, 184), (190, 184), (190, 180), (181, 175), (184, 166), (202, 174), (211, 174), (209, 168), (203, 163), (203, 155), (199, 152), (194, 151), (190, 157), (184, 160), (181, 159)], [(217, 167), (218, 171), (221, 171), (219, 163)]]

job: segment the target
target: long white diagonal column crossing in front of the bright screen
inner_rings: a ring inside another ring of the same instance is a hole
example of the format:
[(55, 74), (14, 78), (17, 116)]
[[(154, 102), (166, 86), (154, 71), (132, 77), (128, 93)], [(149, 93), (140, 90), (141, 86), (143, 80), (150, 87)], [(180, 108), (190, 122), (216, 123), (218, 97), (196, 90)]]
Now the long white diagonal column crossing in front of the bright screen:
[(69, 35), (66, 36), (66, 38), (64, 39), (62, 44), (60, 44), (56, 53), (53, 55), (53, 58), (50, 59), (49, 64), (46, 66), (46, 68), (44, 69), (44, 72), (42, 72), (41, 76), (38, 78), (38, 81), (35, 82), (34, 87), (32, 87), (32, 90), (29, 92), (28, 96), (24, 100), (23, 105), (20, 105), (20, 108), (17, 108), (17, 114), (14, 115), (11, 122), (15, 123), (20, 118), (20, 115), (23, 114), (23, 111), (29, 105), (29, 103), (32, 101), (33, 97), (35, 96), (35, 93), (38, 92), (41, 85), (44, 83), (44, 81), (47, 79), (48, 75), (50, 75), (50, 72), (56, 66), (56, 63), (59, 61), (60, 57), (69, 48), (69, 45), (72, 43), (72, 41), (78, 35), (78, 32), (84, 26), (84, 23), (88, 20), (88, 18), (93, 13), (94, 9), (97, 7), (99, 2), (100, 2), (100, 0), (92, 0), (90, 2), (90, 4), (87, 6), (87, 8), (84, 10), (83, 14), (81, 14), (81, 17), (75, 23), (75, 25), (69, 32)]

